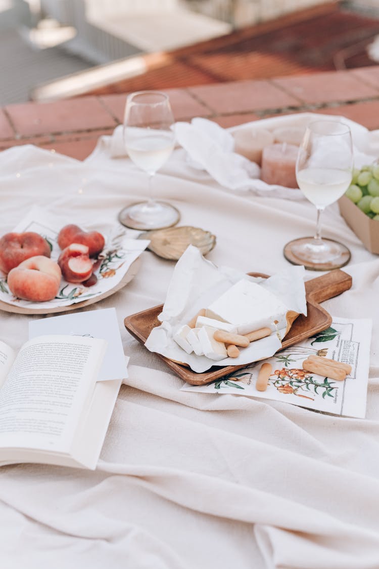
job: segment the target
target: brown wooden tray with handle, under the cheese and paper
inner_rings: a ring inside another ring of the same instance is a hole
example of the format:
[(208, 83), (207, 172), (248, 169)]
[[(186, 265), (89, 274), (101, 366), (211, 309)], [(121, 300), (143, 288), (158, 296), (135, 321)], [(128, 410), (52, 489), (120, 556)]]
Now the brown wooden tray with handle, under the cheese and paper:
[[(252, 277), (267, 277), (267, 275), (261, 273), (249, 273), (249, 275)], [(328, 328), (332, 323), (332, 318), (324, 308), (319, 306), (319, 303), (333, 298), (333, 296), (337, 296), (345, 290), (349, 290), (351, 284), (352, 279), (350, 275), (340, 270), (334, 270), (326, 275), (307, 281), (305, 283), (305, 291), (308, 315), (300, 315), (294, 321), (282, 343), (281, 349), (297, 344), (299, 341), (310, 338)], [(162, 308), (163, 304), (160, 304), (160, 306), (127, 316), (124, 319), (126, 329), (132, 336), (144, 344), (152, 329), (161, 324), (157, 316), (162, 312)], [(169, 368), (182, 380), (191, 385), (209, 384), (211, 381), (235, 372), (237, 369), (245, 368), (248, 365), (213, 366), (207, 372), (195, 373), (186, 365), (178, 364), (160, 354), (157, 354), (157, 356), (164, 360)]]

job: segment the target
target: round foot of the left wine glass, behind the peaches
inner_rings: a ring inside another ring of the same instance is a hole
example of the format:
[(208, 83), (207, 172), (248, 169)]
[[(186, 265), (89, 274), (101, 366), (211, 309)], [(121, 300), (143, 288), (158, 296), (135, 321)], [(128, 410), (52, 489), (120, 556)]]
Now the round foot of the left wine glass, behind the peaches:
[(118, 220), (131, 229), (164, 229), (176, 225), (180, 220), (180, 212), (165, 201), (146, 201), (127, 205), (123, 208)]

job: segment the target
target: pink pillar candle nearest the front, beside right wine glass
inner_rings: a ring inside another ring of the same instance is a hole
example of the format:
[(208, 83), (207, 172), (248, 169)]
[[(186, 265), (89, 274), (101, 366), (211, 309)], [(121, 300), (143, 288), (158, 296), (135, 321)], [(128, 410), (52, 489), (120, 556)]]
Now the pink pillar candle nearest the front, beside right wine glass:
[(262, 152), (261, 179), (266, 184), (298, 188), (295, 175), (299, 147), (293, 144), (272, 144)]

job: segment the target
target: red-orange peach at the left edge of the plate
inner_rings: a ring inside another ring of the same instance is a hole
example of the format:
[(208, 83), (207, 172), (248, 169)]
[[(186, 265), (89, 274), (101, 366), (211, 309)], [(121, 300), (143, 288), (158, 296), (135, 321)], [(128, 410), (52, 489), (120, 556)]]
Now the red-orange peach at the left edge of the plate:
[(36, 255), (50, 257), (50, 248), (48, 242), (34, 231), (6, 233), (0, 239), (0, 270), (5, 274)]

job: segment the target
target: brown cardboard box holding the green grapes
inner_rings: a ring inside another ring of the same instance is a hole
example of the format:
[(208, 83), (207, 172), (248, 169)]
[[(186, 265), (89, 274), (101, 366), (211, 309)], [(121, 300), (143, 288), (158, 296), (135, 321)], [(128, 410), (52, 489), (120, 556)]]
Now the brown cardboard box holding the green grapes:
[(379, 254), (379, 221), (370, 219), (346, 196), (340, 197), (340, 214), (370, 253)]

